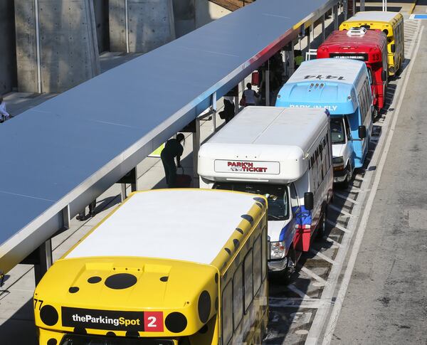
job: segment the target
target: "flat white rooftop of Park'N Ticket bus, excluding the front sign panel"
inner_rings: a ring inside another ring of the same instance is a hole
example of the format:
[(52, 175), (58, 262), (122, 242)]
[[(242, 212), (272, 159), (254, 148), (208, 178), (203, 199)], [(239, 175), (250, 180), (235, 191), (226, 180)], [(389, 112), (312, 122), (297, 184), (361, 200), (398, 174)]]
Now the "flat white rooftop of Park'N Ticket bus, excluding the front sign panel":
[[(297, 159), (310, 149), (313, 137), (317, 137), (327, 123), (323, 109), (246, 107), (202, 145), (199, 154), (203, 155), (209, 146), (221, 146), (232, 151), (236, 151), (233, 147), (241, 146), (243, 158), (243, 154), (255, 154), (263, 147), (263, 154), (270, 152), (275, 160), (291, 159), (289, 156), (278, 157), (283, 152), (278, 151), (280, 146), (285, 147), (288, 154), (295, 154)], [(221, 159), (221, 156), (217, 158)]]

